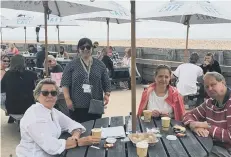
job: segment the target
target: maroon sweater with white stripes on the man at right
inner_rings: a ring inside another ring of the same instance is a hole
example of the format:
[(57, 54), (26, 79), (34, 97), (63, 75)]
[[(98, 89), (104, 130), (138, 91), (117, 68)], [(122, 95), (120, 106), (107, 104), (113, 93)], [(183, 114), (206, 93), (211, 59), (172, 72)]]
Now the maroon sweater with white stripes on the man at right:
[(185, 114), (183, 123), (188, 125), (193, 121), (207, 121), (211, 127), (208, 129), (215, 143), (231, 149), (231, 91), (227, 90), (223, 108), (217, 106), (213, 99), (206, 100), (201, 106)]

